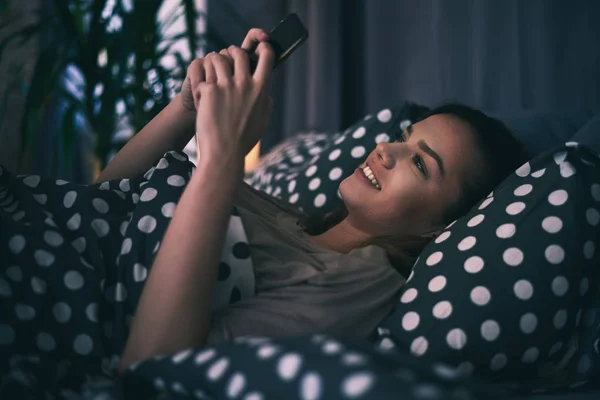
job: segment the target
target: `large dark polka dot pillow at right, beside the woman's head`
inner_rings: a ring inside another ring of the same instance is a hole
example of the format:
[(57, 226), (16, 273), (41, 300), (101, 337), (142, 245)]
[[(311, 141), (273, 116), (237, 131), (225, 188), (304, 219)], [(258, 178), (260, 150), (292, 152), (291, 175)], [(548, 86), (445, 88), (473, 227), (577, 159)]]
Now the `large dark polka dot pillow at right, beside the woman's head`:
[(591, 151), (524, 164), (424, 249), (380, 345), (538, 388), (598, 374), (598, 210)]

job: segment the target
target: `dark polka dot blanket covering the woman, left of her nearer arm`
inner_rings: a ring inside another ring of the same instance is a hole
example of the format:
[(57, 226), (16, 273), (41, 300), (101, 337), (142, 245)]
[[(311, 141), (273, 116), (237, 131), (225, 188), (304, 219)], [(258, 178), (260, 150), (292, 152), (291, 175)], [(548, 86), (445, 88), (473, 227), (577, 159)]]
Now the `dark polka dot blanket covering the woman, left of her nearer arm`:
[[(22, 383), (56, 394), (114, 375), (193, 169), (170, 152), (138, 179), (83, 186), (0, 167), (0, 387)], [(252, 295), (249, 247), (234, 209), (213, 308)], [(0, 391), (0, 398), (8, 397)]]

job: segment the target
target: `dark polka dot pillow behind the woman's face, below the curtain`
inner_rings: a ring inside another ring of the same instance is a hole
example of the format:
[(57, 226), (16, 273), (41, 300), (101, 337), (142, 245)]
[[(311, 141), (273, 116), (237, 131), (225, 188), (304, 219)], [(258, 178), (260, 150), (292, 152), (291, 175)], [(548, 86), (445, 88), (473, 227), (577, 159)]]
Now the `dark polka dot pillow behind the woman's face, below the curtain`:
[(262, 157), (246, 182), (313, 215), (341, 205), (338, 186), (379, 142), (416, 121), (427, 109), (413, 103), (367, 115), (341, 133), (304, 132)]

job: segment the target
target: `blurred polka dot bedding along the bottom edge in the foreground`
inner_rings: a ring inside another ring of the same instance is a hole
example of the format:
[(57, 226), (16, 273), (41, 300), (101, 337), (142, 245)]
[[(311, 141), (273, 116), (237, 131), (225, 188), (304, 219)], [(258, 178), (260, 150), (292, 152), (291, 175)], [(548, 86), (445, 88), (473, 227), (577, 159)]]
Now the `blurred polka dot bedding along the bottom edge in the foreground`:
[[(505, 399), (498, 388), (457, 379), (447, 366), (368, 342), (325, 335), (234, 342), (155, 357), (123, 376), (125, 398)], [(160, 396), (159, 398), (163, 398)]]

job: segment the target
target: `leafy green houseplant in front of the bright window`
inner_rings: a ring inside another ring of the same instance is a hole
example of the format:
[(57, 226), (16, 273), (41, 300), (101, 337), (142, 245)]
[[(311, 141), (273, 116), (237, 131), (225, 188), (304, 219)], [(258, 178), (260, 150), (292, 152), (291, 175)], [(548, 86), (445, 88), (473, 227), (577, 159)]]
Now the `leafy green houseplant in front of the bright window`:
[[(10, 42), (40, 40), (22, 116), (19, 162), (52, 154), (45, 170), (54, 176), (73, 178), (81, 168), (82, 131), (92, 138), (91, 157), (100, 170), (174, 97), (199, 50), (209, 41), (216, 47), (228, 44), (195, 0), (43, 4), (33, 11), (39, 14), (35, 22), (0, 42), (0, 60)], [(183, 29), (174, 31), (173, 24), (182, 20)], [(239, 16), (235, 20), (243, 23)], [(202, 31), (199, 21), (205, 24)]]

